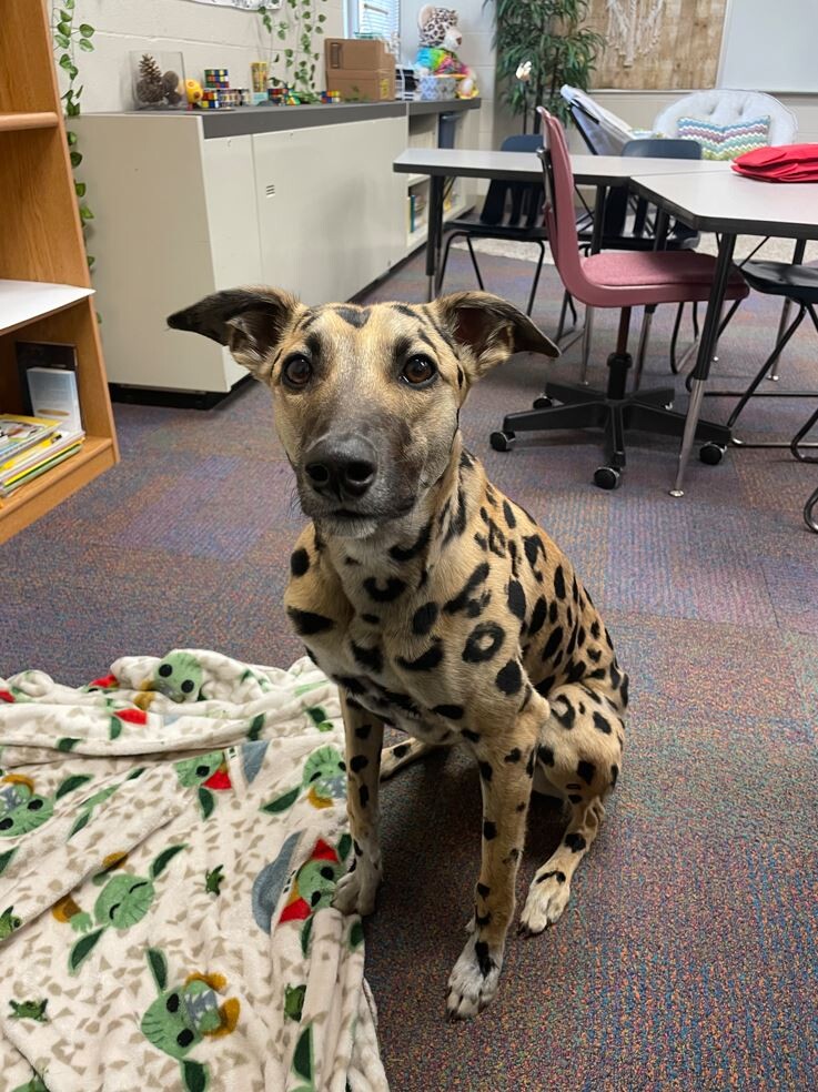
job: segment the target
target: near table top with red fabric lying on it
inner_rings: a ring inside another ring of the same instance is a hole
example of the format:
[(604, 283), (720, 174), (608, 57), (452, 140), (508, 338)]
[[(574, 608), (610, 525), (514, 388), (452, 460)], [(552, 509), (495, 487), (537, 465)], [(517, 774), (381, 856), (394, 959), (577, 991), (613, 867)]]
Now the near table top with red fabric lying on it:
[(634, 175), (634, 190), (699, 231), (818, 239), (818, 182), (723, 174)]

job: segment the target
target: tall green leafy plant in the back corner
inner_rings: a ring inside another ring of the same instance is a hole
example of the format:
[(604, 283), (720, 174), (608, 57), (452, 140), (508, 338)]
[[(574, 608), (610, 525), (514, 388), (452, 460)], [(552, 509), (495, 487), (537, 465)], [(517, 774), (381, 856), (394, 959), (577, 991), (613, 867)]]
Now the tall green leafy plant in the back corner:
[[(523, 114), (528, 104), (543, 105), (561, 120), (568, 117), (559, 94), (564, 83), (586, 91), (602, 34), (583, 26), (588, 0), (494, 0), (494, 44), (501, 95), (512, 112)], [(517, 70), (531, 62), (527, 79)], [(536, 124), (535, 124), (536, 129)]]

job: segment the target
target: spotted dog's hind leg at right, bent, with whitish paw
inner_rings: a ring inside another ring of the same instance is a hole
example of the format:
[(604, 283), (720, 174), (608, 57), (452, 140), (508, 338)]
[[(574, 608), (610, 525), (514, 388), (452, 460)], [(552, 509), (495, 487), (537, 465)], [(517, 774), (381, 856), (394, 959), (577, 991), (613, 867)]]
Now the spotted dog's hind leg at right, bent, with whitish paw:
[(537, 869), (519, 918), (519, 931), (542, 932), (562, 914), (570, 881), (605, 817), (604, 798), (622, 768), (622, 701), (582, 684), (548, 695), (552, 715), (537, 750), (538, 772), (566, 799), (570, 819), (552, 857)]

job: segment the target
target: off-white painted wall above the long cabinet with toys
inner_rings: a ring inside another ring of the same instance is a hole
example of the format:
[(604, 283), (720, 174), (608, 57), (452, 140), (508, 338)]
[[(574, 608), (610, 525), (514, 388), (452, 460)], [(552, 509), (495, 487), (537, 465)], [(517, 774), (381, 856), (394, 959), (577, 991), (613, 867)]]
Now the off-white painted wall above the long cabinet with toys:
[[(97, 28), (94, 52), (78, 54), (85, 112), (132, 108), (131, 50), (181, 51), (185, 74), (194, 79), (205, 68), (228, 68), (233, 87), (250, 87), (251, 61), (271, 60), (270, 36), (255, 11), (191, 0), (77, 0), (75, 10), (78, 21)], [(325, 34), (343, 37), (342, 0), (326, 0), (321, 11)], [(323, 82), (321, 36), (316, 42)]]

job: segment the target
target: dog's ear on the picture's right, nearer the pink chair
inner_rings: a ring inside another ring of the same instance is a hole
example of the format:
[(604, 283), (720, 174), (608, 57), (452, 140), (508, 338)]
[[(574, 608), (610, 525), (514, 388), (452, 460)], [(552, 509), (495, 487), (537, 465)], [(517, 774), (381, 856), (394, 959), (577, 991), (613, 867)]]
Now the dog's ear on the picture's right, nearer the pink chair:
[(433, 304), (461, 346), (471, 350), (464, 360), (473, 382), (512, 353), (542, 353), (559, 356), (559, 350), (527, 315), (491, 292), (455, 292)]

